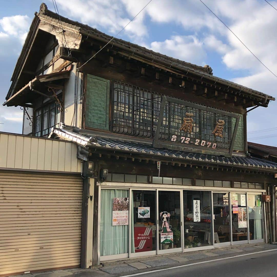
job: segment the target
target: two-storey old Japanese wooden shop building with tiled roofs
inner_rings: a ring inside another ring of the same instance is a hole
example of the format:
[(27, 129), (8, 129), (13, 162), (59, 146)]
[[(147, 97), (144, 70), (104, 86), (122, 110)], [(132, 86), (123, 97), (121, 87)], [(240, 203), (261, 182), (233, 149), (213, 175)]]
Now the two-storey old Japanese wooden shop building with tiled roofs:
[(277, 163), (250, 156), (246, 126), (275, 98), (110, 39), (42, 4), (4, 103), (24, 107), (23, 132), (78, 146), (81, 265), (274, 241)]

